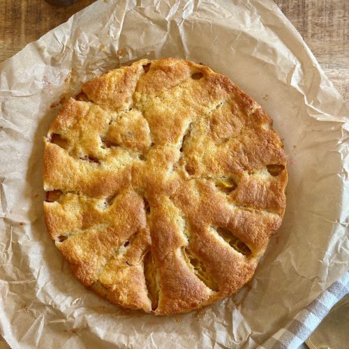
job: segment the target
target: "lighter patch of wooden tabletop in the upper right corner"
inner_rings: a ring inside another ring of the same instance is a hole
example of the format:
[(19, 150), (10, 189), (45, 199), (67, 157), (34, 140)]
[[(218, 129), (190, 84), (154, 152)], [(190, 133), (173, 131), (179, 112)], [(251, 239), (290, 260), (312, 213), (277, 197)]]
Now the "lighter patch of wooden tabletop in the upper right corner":
[(276, 0), (349, 105), (349, 0)]

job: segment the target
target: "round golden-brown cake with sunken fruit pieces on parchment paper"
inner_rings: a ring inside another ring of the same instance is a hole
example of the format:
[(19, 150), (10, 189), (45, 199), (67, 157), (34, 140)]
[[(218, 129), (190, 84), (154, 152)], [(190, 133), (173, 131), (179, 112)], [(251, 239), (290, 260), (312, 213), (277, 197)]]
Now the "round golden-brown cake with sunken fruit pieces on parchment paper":
[(283, 218), (272, 120), (207, 66), (110, 70), (44, 142), (47, 230), (75, 277), (119, 306), (170, 315), (232, 295)]

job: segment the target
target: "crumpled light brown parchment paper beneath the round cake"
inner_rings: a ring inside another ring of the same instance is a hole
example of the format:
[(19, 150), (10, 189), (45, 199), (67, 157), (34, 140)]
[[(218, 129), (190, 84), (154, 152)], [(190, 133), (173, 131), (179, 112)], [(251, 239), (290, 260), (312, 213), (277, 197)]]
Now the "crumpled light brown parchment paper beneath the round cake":
[[(283, 225), (234, 297), (174, 317), (123, 311), (73, 279), (45, 231), (43, 135), (103, 71), (181, 57), (228, 75), (288, 154)], [(97, 1), (0, 66), (1, 333), (13, 348), (252, 348), (348, 270), (348, 110), (269, 0)]]

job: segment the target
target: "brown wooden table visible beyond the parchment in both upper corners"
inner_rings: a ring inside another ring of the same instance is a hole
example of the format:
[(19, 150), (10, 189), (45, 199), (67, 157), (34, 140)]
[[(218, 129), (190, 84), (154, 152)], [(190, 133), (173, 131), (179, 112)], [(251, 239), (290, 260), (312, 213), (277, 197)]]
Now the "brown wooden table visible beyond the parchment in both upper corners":
[[(55, 8), (43, 0), (1, 0), (0, 62), (93, 3)], [(349, 1), (276, 0), (349, 105)]]

